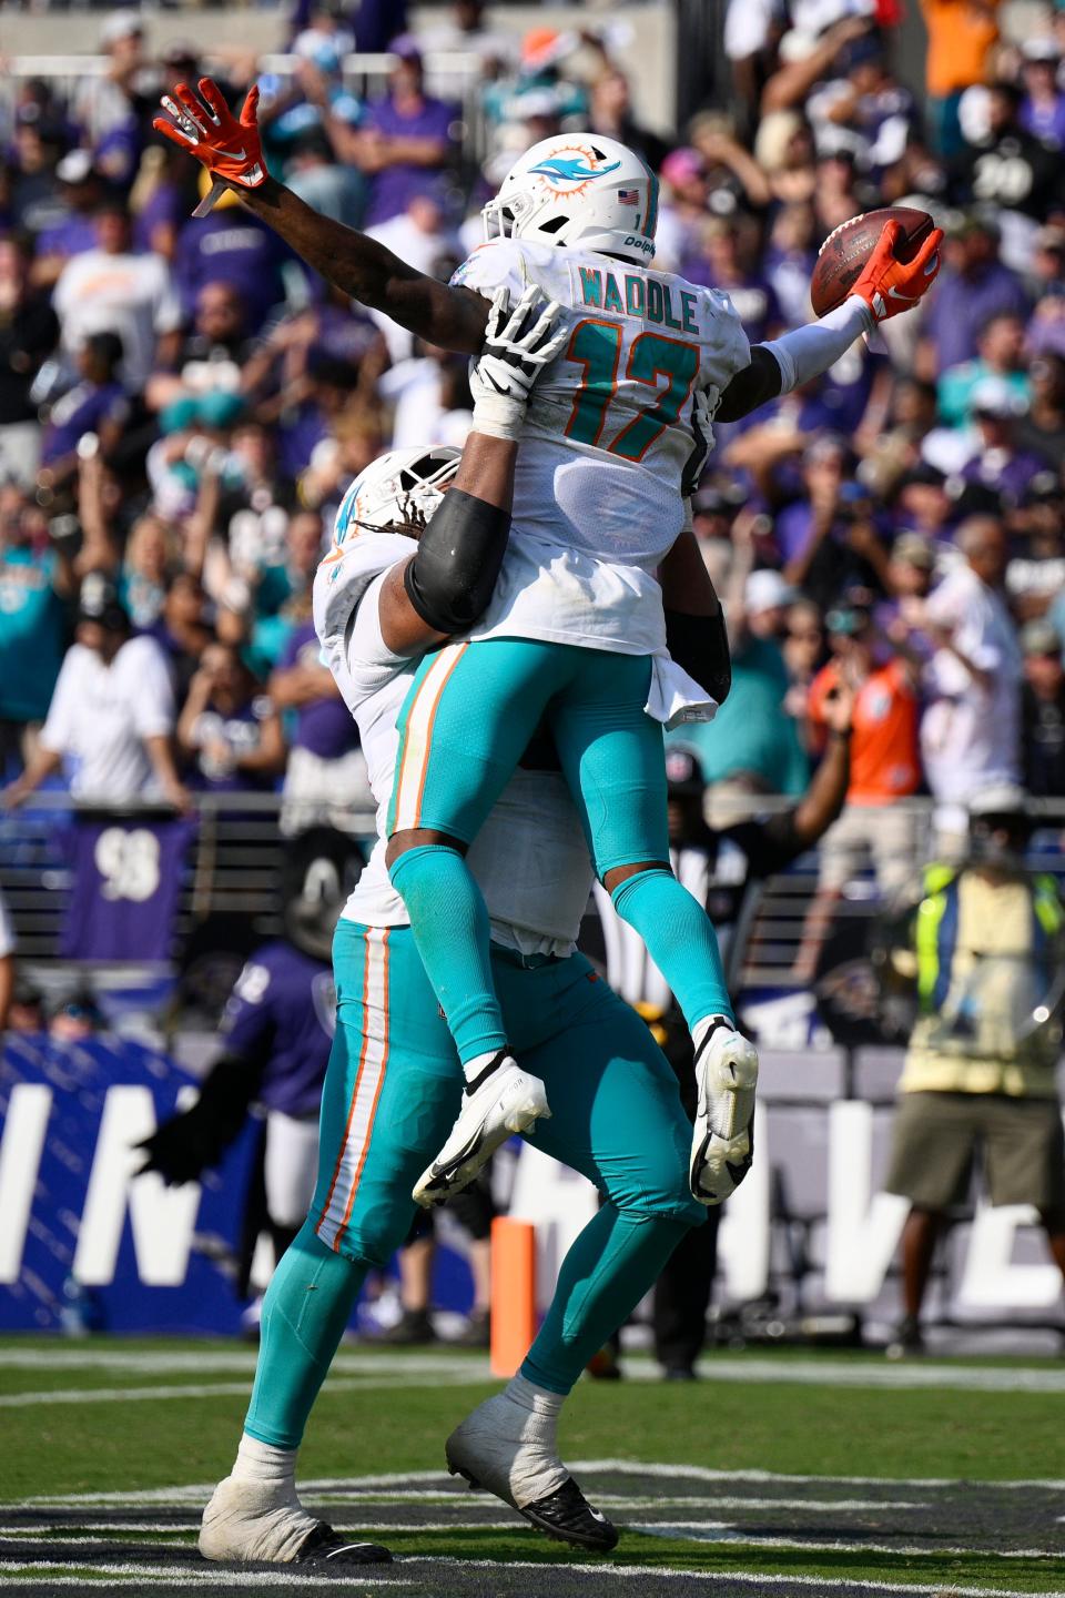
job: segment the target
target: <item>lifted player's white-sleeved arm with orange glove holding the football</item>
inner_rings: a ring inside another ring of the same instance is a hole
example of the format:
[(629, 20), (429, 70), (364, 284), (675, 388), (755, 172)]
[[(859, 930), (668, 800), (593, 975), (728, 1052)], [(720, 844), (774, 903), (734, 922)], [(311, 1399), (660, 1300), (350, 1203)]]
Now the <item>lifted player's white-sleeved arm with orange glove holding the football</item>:
[(901, 237), (899, 224), (888, 222), (851, 294), (827, 316), (795, 328), (771, 344), (755, 344), (750, 366), (736, 372), (725, 388), (715, 419), (738, 422), (768, 400), (802, 388), (835, 366), (864, 332), (920, 305), (936, 281), (944, 235), (940, 229), (932, 229), (913, 260), (896, 257)]

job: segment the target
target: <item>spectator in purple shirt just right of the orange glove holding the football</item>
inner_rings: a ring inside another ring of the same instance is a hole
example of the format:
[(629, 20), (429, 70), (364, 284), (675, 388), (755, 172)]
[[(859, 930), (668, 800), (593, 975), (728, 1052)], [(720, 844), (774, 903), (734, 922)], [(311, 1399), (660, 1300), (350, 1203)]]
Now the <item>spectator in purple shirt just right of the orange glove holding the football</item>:
[(936, 372), (974, 361), (992, 316), (1014, 312), (1027, 318), (1030, 310), (1020, 278), (998, 259), (998, 227), (987, 217), (966, 217), (944, 254), (923, 326)]

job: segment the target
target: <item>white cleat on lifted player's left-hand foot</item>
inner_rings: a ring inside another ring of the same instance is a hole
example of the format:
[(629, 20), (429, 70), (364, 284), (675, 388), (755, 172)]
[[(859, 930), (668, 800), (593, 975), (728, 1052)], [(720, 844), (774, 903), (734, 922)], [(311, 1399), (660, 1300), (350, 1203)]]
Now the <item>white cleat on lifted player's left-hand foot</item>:
[(516, 1131), (530, 1131), (551, 1115), (540, 1077), (522, 1071), (503, 1050), (463, 1091), (458, 1120), (433, 1163), (415, 1183), (414, 1198), (423, 1210), (461, 1192), (501, 1143)]

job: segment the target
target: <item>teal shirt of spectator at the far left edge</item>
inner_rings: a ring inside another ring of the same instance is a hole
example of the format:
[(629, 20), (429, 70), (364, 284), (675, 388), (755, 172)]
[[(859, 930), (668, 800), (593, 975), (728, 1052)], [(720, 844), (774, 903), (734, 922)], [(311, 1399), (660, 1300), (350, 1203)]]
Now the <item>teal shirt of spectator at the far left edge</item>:
[(0, 548), (0, 719), (43, 721), (67, 644), (56, 555)]

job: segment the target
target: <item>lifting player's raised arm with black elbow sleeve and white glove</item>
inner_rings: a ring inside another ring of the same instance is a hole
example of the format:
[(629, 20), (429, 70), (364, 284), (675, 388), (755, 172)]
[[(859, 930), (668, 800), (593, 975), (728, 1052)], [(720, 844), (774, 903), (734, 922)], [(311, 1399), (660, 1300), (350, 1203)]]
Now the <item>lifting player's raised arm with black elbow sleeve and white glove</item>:
[(418, 539), (418, 551), (385, 578), (378, 620), (385, 646), (414, 655), (484, 614), (511, 531), (514, 462), (525, 406), (540, 372), (565, 339), (559, 307), (529, 288), (514, 308), (506, 289), (492, 300), (484, 353), (469, 372), (473, 431), (444, 503)]

